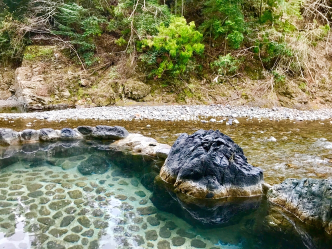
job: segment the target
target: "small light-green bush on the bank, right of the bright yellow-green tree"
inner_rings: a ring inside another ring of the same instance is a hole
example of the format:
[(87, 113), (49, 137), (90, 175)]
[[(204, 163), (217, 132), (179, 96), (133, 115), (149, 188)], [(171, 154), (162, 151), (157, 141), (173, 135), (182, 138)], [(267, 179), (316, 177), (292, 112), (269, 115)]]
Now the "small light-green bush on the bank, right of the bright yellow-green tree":
[(230, 53), (225, 56), (219, 56), (217, 60), (211, 63), (211, 67), (216, 69), (218, 75), (227, 76), (236, 73), (240, 60), (234, 58)]

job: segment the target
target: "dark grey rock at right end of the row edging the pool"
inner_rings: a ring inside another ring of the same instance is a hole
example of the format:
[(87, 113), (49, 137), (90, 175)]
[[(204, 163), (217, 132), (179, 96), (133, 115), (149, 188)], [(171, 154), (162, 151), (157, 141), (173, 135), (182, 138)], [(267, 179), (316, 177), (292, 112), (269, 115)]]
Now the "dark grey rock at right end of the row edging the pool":
[(128, 131), (121, 126), (97, 125), (92, 129), (92, 138), (118, 140), (128, 136)]

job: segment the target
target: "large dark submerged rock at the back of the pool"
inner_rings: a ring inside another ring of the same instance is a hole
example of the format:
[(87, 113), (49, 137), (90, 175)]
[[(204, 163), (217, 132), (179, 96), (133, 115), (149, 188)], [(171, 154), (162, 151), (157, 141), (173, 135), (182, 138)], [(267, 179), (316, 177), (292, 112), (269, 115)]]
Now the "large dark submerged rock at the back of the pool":
[(77, 169), (83, 175), (103, 174), (109, 170), (110, 166), (111, 164), (105, 156), (93, 154), (81, 161)]

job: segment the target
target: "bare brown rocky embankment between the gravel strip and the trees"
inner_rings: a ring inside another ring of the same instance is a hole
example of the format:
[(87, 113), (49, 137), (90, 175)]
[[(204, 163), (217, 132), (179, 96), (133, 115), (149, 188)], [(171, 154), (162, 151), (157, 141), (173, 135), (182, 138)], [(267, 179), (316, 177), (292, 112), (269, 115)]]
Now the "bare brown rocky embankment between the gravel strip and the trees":
[[(206, 78), (191, 79), (190, 83), (144, 76), (119, 79), (119, 65), (100, 65), (98, 70), (83, 71), (68, 59), (65, 50), (54, 46), (27, 46), (20, 67), (0, 70), (0, 106), (20, 104), (27, 109), (174, 103), (297, 109), (332, 106), (332, 72), (322, 72), (319, 79), (312, 80), (310, 87), (304, 87), (306, 84), (297, 80), (284, 82), (276, 89), (273, 77), (264, 75), (258, 65), (248, 61), (243, 62), (243, 75), (223, 83), (213, 83)], [(325, 56), (321, 56), (321, 63), (322, 68), (331, 64)]]

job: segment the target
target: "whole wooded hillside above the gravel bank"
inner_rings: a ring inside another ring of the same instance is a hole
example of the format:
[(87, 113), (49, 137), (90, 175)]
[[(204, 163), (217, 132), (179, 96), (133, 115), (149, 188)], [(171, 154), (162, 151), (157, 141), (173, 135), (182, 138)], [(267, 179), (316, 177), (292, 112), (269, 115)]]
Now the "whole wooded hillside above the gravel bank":
[(15, 93), (33, 109), (137, 101), (332, 106), (328, 0), (4, 0), (0, 7), (0, 99)]

